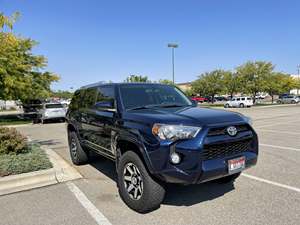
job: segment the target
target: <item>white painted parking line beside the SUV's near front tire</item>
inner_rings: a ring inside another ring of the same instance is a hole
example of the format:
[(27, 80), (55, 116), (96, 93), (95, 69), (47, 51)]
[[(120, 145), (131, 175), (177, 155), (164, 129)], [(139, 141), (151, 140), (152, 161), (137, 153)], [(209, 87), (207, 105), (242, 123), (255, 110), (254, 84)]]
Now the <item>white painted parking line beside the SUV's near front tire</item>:
[(85, 194), (72, 182), (67, 183), (70, 191), (75, 195), (80, 204), (93, 217), (98, 225), (111, 225), (108, 219), (96, 208), (95, 205), (85, 196)]

